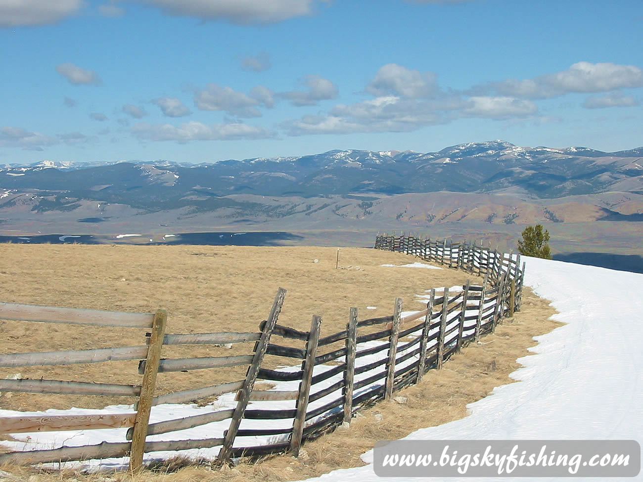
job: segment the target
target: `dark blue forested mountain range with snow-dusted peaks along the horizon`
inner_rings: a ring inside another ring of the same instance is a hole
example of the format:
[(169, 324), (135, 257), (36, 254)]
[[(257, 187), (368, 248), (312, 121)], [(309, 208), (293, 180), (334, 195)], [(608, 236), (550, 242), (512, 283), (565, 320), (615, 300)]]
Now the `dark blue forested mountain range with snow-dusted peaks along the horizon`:
[(42, 161), (0, 168), (0, 208), (17, 193), (40, 199), (33, 210), (73, 210), (82, 200), (137, 210), (231, 206), (230, 195), (318, 197), (462, 192), (555, 199), (643, 192), (643, 147), (601, 152), (586, 147), (466, 143), (439, 152), (331, 150), (300, 157), (192, 165), (174, 161)]

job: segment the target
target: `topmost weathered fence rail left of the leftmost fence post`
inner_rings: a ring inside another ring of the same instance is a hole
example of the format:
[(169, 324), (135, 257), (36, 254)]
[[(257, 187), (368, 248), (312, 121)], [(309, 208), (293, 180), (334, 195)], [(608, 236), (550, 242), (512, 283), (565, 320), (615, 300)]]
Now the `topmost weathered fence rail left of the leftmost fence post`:
[(73, 325), (133, 326), (150, 328), (154, 313), (87, 310), (84, 308), (44, 307), (21, 303), (0, 303), (0, 319), (71, 323)]

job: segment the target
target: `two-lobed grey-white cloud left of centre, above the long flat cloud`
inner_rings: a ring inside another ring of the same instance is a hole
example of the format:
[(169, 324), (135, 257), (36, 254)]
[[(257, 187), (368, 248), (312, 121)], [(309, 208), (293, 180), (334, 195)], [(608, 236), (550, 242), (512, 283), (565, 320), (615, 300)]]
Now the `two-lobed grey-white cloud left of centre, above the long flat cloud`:
[(202, 91), (195, 92), (194, 104), (202, 111), (224, 111), (231, 116), (244, 118), (260, 117), (262, 114), (257, 107), (272, 107), (272, 94), (261, 85), (248, 95), (228, 86), (208, 84)]

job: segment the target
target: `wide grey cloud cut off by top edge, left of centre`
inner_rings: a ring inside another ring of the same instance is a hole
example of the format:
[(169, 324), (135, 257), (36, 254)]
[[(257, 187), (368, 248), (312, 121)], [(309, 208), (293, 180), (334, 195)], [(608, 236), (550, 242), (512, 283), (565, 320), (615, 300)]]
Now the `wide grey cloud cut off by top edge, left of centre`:
[(315, 0), (138, 0), (169, 15), (235, 24), (269, 24), (311, 15)]

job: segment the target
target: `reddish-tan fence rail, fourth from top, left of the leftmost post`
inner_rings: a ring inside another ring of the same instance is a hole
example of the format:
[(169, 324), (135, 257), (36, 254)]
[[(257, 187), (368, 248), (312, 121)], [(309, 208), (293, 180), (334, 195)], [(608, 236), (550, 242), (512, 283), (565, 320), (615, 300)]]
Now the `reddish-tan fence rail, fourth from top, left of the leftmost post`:
[(96, 415), (37, 415), (0, 417), (2, 433), (120, 429), (134, 425), (136, 413)]

